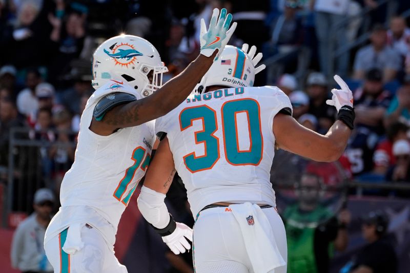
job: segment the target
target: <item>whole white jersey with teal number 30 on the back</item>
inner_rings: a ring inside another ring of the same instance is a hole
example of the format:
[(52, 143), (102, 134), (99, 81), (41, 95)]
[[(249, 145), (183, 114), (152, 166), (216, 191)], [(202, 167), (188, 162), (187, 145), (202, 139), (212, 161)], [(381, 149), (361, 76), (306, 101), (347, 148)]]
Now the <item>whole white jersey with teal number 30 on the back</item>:
[(273, 118), (284, 108), (292, 110), (291, 102), (277, 87), (229, 88), (191, 95), (156, 120), (194, 216), (215, 202), (275, 206)]

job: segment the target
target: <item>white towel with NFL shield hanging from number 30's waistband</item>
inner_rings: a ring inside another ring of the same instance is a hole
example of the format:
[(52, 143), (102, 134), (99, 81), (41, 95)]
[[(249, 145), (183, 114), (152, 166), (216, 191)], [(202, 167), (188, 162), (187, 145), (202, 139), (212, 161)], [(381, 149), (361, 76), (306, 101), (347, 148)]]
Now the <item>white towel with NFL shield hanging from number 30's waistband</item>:
[(239, 223), (253, 270), (265, 273), (285, 265), (286, 262), (276, 245), (272, 227), (262, 209), (249, 202), (229, 207)]

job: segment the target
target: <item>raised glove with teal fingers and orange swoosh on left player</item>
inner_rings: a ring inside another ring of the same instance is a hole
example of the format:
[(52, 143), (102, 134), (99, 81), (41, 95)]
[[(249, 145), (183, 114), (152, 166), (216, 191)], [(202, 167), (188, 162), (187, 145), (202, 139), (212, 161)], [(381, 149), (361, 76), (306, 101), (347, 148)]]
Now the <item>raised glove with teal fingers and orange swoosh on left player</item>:
[(215, 59), (218, 58), (223, 48), (228, 44), (228, 41), (236, 28), (236, 23), (233, 23), (231, 28), (229, 28), (229, 25), (231, 25), (232, 22), (232, 14), (229, 13), (227, 16), (226, 9), (221, 9), (219, 19), (218, 15), (219, 10), (214, 9), (208, 30), (205, 25), (205, 20), (203, 18), (201, 19), (201, 33), (199, 36), (201, 45), (200, 53), (209, 57), (216, 49), (218, 49)]

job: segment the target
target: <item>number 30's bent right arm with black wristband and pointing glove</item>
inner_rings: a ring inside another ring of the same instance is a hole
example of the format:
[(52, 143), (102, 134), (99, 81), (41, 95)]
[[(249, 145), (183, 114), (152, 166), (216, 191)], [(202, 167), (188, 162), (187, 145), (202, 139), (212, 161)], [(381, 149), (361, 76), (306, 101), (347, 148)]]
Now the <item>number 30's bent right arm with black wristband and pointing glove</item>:
[(300, 125), (293, 117), (277, 114), (273, 120), (273, 132), (279, 148), (313, 159), (332, 162), (342, 155), (353, 129), (353, 95), (339, 77), (335, 80), (341, 90), (333, 89), (332, 100), (326, 101), (338, 110), (338, 120), (326, 135), (320, 135)]

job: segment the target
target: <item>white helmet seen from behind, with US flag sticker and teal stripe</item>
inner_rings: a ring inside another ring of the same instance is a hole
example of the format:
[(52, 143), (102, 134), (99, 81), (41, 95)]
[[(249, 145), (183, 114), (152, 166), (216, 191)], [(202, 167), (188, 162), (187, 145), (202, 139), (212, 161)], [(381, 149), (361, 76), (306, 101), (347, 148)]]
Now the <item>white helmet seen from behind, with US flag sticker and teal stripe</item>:
[(240, 48), (226, 46), (198, 85), (195, 93), (202, 93), (209, 86), (253, 86), (255, 67), (252, 59)]

